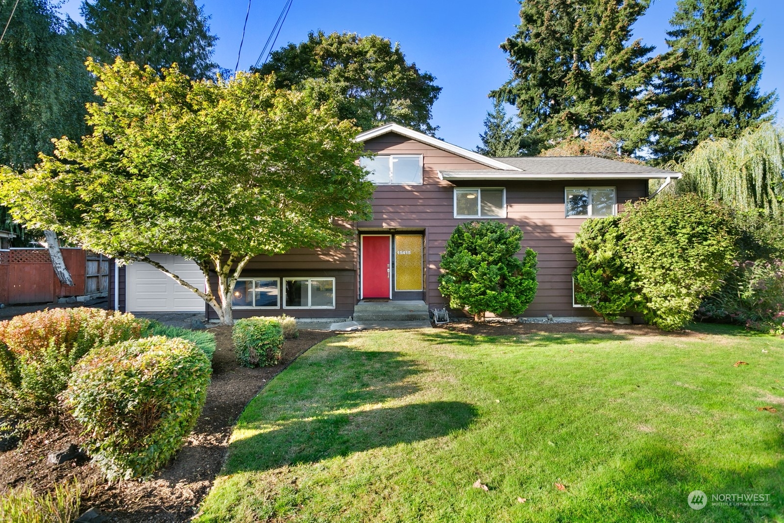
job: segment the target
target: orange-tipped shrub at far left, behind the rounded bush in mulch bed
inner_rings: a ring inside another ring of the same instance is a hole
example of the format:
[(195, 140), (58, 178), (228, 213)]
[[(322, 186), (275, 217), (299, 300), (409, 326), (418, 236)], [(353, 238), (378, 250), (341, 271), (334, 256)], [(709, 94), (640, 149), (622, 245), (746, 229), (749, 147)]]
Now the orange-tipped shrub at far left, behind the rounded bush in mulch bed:
[(86, 307), (0, 322), (0, 417), (17, 423), (17, 432), (56, 424), (71, 367), (93, 347), (138, 338), (146, 327), (132, 314)]

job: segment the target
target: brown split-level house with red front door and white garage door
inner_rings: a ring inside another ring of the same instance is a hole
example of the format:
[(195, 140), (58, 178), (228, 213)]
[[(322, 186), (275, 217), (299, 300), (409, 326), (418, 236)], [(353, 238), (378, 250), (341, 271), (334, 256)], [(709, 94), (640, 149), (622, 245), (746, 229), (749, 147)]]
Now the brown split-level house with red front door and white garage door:
[[(234, 289), (235, 318), (347, 318), (368, 299), (445, 307), (438, 292), (445, 243), (460, 223), (488, 219), (521, 227), (521, 252), (539, 253), (539, 290), (524, 315), (585, 316), (572, 285), (580, 223), (648, 197), (648, 180), (681, 176), (591, 156), (488, 158), (394, 123), (357, 140), (377, 153), (361, 160), (377, 186), (373, 220), (355, 223), (356, 241), (342, 249), (256, 257)], [(203, 285), (194, 263), (158, 261)], [(113, 279), (110, 306), (121, 311), (205, 311), (198, 296), (145, 263), (115, 267)], [(215, 317), (209, 308), (207, 314)]]

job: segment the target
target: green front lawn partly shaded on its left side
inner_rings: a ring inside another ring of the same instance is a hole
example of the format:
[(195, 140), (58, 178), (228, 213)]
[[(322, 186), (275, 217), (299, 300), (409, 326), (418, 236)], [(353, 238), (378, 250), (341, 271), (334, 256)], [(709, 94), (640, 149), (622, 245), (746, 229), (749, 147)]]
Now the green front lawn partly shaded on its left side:
[[(784, 342), (695, 329), (326, 340), (245, 410), (195, 521), (784, 521)], [(739, 493), (769, 504), (710, 505)]]

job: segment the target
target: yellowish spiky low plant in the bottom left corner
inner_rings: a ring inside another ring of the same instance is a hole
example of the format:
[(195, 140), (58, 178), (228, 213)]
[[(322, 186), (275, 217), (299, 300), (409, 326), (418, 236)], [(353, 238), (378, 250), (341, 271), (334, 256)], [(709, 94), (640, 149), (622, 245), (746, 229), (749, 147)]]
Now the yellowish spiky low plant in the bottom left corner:
[(71, 523), (81, 515), (82, 488), (75, 479), (55, 485), (54, 492), (37, 496), (24, 485), (0, 496), (0, 521), (13, 523)]

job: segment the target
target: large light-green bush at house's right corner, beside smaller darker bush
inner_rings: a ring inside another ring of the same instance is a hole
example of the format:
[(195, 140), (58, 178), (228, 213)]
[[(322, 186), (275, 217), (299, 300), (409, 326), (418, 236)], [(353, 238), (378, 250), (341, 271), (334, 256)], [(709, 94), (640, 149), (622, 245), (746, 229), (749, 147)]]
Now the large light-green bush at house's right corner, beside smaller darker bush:
[(735, 221), (726, 207), (696, 194), (660, 194), (626, 209), (623, 261), (638, 282), (644, 317), (661, 329), (681, 329), (731, 270)]

